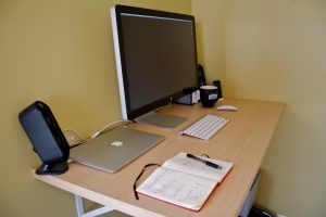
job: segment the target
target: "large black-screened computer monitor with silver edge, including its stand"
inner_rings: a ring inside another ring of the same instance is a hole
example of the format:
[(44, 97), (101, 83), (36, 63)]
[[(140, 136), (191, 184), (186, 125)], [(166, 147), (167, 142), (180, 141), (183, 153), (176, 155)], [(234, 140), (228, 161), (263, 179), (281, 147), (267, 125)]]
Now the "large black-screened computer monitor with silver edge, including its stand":
[(153, 112), (198, 87), (195, 17), (111, 8), (123, 118), (173, 128), (185, 117)]

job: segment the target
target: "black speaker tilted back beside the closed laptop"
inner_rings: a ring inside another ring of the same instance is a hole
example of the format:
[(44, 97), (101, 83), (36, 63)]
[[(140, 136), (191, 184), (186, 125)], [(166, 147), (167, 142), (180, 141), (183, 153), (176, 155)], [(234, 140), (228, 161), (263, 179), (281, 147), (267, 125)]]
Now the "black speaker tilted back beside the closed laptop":
[(59, 175), (68, 169), (70, 145), (50, 107), (36, 101), (18, 115), (34, 151), (42, 161), (38, 175)]

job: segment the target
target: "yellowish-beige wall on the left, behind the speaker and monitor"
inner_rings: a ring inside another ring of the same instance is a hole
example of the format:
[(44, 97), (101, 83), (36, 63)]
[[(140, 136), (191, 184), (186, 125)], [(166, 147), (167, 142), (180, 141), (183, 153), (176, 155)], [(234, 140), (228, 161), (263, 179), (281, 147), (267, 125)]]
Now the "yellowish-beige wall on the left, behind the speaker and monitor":
[(109, 10), (191, 13), (190, 0), (0, 0), (0, 216), (76, 216), (73, 195), (36, 181), (17, 115), (35, 100), (85, 137), (121, 119)]

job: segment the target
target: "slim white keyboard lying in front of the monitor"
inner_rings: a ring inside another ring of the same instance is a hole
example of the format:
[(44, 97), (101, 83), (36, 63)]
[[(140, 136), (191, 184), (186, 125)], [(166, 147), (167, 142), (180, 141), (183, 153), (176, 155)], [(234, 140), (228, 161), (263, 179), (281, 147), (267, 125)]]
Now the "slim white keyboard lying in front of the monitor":
[(199, 139), (209, 140), (228, 122), (229, 119), (227, 118), (206, 114), (192, 123), (186, 129), (181, 130), (180, 135), (188, 135)]

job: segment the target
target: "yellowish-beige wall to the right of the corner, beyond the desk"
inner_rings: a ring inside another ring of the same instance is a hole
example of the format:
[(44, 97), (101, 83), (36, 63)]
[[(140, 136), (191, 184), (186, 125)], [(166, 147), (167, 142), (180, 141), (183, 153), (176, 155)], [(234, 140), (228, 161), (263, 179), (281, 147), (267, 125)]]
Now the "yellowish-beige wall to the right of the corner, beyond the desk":
[(326, 215), (325, 12), (323, 0), (192, 0), (209, 79), (287, 103), (256, 202), (288, 217)]

